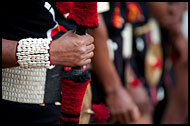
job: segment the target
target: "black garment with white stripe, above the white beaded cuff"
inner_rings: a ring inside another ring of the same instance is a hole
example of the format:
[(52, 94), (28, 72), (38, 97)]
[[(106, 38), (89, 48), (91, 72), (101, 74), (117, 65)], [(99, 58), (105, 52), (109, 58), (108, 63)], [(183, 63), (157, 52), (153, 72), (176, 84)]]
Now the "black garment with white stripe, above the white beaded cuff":
[(55, 2), (22, 1), (2, 4), (2, 37), (5, 39), (19, 41), (28, 37), (47, 38), (47, 31), (56, 25), (52, 9), (58, 24), (62, 24), (66, 29), (71, 28), (56, 9)]

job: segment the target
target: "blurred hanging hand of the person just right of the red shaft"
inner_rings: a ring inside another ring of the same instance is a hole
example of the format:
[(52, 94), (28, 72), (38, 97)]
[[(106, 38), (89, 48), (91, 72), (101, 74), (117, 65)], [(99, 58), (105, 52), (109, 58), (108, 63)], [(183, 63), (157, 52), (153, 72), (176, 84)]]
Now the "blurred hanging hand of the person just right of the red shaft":
[(111, 123), (129, 123), (140, 117), (138, 107), (123, 87), (107, 95), (106, 103), (111, 112)]

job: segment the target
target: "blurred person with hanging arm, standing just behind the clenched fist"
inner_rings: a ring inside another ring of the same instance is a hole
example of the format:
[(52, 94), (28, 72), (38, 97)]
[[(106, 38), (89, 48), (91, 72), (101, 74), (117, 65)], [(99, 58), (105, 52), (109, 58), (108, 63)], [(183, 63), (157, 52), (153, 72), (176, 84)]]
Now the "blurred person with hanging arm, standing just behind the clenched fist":
[[(112, 41), (122, 42), (121, 29), (115, 28), (112, 22), (113, 20), (117, 20), (119, 23), (120, 21), (122, 22), (122, 19), (113, 19), (113, 15), (116, 16), (116, 18), (118, 16), (119, 4), (120, 2), (110, 3), (110, 11), (99, 15), (99, 28), (89, 31), (95, 38), (96, 47), (95, 55), (92, 59), (93, 72), (91, 82), (93, 92), (92, 107), (94, 108), (95, 114), (92, 117), (91, 123), (106, 123), (108, 122), (106, 118), (102, 120), (105, 116), (107, 116), (107, 118), (110, 116), (110, 123), (129, 123), (138, 120), (140, 116), (138, 107), (123, 86), (124, 83), (122, 80), (124, 80), (123, 71), (125, 66), (123, 62), (125, 61), (120, 53), (122, 46), (118, 46), (117, 54), (111, 52), (115, 55), (114, 57), (116, 59), (119, 58), (119, 60), (114, 60), (118, 62), (116, 63), (117, 67), (115, 67), (111, 61), (107, 47), (107, 41), (111, 41), (111, 46)], [(116, 11), (113, 10), (115, 6)], [(125, 11), (124, 8), (122, 11)], [(112, 15), (113, 11), (114, 14)], [(117, 21), (116, 23), (118, 23)], [(122, 26), (123, 23), (125, 22), (122, 22)], [(115, 44), (115, 46), (117, 45)], [(96, 113), (99, 113), (99, 115)]]

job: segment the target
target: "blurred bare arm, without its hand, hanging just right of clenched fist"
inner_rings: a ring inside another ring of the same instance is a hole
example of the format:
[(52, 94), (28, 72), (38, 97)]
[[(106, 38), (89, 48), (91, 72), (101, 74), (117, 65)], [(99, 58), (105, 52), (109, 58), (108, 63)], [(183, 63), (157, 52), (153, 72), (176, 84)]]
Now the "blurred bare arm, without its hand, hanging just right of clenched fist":
[(109, 58), (107, 47), (107, 31), (101, 15), (99, 15), (99, 27), (95, 30), (89, 30), (94, 37), (94, 57), (92, 58), (93, 71), (104, 86), (106, 93), (113, 92), (114, 89), (121, 86), (121, 81), (113, 62)]

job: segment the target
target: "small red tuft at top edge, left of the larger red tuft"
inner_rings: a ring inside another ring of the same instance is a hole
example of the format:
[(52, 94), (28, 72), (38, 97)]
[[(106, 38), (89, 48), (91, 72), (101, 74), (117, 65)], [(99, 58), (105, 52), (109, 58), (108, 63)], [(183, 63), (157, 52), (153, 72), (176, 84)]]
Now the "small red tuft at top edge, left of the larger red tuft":
[(66, 14), (71, 11), (73, 2), (56, 2), (56, 7), (61, 14)]

